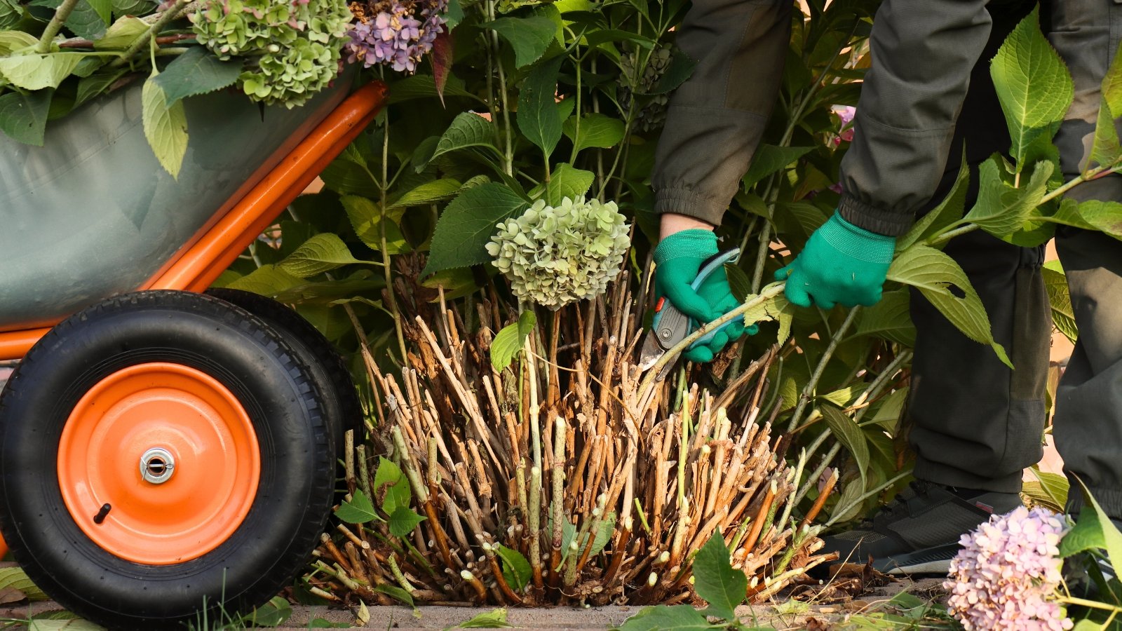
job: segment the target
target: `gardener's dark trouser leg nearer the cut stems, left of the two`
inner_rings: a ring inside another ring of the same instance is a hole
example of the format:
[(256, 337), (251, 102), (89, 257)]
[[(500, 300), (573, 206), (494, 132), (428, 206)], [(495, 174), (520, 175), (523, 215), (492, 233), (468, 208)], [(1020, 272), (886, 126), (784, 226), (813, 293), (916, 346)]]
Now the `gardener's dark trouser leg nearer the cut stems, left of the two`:
[[(957, 174), (965, 140), (971, 165), (1009, 149), (1010, 139), (990, 79), (988, 62), (1032, 3), (992, 6), (991, 40), (975, 66), (958, 119), (941, 191)], [(976, 198), (976, 170), (966, 208)], [(937, 193), (936, 199), (942, 195)], [(1042, 248), (1021, 248), (981, 230), (947, 244), (988, 314), (994, 339), (1017, 367), (962, 335), (918, 291), (909, 441), (916, 477), (967, 488), (1017, 492), (1022, 469), (1041, 456), (1050, 318), (1040, 276)]]

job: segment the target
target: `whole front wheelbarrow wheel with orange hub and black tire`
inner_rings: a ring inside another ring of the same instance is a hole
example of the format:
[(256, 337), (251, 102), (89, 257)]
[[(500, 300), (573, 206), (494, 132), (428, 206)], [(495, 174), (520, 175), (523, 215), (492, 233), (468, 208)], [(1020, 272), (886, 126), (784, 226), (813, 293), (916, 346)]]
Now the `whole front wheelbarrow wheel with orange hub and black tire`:
[(180, 627), (289, 584), (331, 511), (334, 436), (282, 333), (215, 298), (103, 301), (0, 400), (0, 530), (48, 595), (112, 629)]

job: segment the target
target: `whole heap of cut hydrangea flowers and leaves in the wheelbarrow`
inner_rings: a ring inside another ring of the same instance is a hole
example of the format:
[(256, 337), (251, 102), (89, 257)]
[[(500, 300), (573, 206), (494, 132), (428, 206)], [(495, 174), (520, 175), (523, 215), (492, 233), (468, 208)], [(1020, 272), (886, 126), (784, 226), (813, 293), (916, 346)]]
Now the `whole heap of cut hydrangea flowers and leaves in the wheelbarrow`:
[(412, 72), (445, 10), (442, 1), (0, 0), (0, 131), (43, 146), (50, 120), (144, 81), (145, 136), (177, 176), (183, 99), (234, 89), (293, 108), (348, 61)]

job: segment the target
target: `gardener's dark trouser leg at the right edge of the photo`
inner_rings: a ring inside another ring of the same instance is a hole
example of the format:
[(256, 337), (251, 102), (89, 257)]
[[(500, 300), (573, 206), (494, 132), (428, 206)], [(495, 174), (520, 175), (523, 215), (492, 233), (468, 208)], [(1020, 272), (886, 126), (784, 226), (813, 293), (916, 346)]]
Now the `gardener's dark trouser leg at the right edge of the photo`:
[[(1054, 1), (1049, 39), (1075, 81), (1075, 102), (1056, 137), (1065, 176), (1089, 155), (1100, 84), (1122, 38), (1122, 4), (1113, 0)], [(1077, 200), (1122, 201), (1112, 175), (1072, 190)], [(1113, 518), (1122, 518), (1122, 241), (1061, 229), (1056, 248), (1067, 273), (1079, 339), (1056, 401), (1056, 447), (1072, 479), (1069, 509), (1082, 505), (1076, 477)]]

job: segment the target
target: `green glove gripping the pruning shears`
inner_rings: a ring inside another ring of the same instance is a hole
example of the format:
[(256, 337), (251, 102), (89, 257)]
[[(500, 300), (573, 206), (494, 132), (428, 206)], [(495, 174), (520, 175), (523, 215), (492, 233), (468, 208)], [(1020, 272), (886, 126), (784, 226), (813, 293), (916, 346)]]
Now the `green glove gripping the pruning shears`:
[[(739, 304), (728, 286), (724, 268), (709, 275), (697, 291), (690, 286), (705, 262), (717, 252), (717, 236), (700, 228), (674, 232), (654, 249), (655, 295), (669, 300), (699, 326), (720, 318)], [(682, 356), (690, 362), (712, 362), (728, 342), (736, 341), (745, 332), (753, 335), (756, 329), (753, 324), (745, 330), (744, 321), (735, 319), (717, 331), (708, 344), (693, 346)]]

